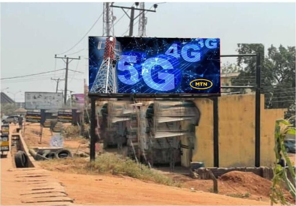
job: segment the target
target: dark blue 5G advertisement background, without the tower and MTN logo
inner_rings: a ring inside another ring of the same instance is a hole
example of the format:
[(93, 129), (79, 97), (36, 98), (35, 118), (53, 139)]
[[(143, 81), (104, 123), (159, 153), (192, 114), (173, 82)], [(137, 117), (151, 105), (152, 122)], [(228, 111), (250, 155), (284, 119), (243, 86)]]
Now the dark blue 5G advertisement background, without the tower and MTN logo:
[[(89, 37), (89, 90), (104, 53), (104, 49), (98, 49), (98, 44), (105, 39)], [(116, 63), (117, 93), (220, 93), (219, 39), (116, 37), (116, 44), (121, 47), (116, 57), (132, 56), (136, 59), (129, 62), (120, 58)], [(182, 50), (185, 45), (188, 49)], [(189, 45), (193, 45), (192, 48)], [(194, 60), (196, 52), (200, 52), (198, 61)], [(153, 61), (146, 61), (151, 58)], [(190, 62), (192, 59), (194, 62)], [(123, 69), (127, 65), (137, 71), (136, 78), (131, 77), (129, 70)], [(143, 77), (143, 74), (146, 76)], [(195, 89), (190, 82), (196, 79), (209, 80), (213, 85), (207, 89)]]

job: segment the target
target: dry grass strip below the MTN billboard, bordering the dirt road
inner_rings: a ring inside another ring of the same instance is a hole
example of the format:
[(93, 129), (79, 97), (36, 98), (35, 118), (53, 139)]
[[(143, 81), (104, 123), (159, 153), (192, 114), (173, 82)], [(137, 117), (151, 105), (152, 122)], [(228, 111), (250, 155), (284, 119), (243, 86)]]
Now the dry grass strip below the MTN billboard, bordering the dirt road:
[(83, 158), (55, 159), (40, 162), (48, 170), (65, 171), (80, 174), (112, 174), (123, 175), (159, 184), (181, 187), (181, 182), (165, 176), (146, 165), (137, 164), (128, 157), (112, 153), (104, 153), (94, 162)]

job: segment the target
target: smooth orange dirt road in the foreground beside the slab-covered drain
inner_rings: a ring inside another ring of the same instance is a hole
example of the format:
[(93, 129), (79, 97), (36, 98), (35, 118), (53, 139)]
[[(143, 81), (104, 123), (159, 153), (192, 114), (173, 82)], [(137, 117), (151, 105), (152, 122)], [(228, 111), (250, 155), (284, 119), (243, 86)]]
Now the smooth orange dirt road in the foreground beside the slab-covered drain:
[(269, 202), (190, 191), (125, 176), (50, 173), (80, 205), (269, 205)]

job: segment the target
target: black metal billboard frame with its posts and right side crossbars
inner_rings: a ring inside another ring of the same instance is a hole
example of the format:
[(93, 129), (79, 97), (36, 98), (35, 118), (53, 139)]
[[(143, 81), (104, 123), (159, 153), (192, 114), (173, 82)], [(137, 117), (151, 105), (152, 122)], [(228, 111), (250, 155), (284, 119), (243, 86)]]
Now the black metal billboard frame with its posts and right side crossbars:
[[(260, 94), (261, 94), (261, 54), (230, 54), (220, 55), (221, 57), (255, 57), (256, 58), (256, 86), (221, 86), (221, 88), (254, 88), (255, 89), (255, 167), (260, 167)], [(264, 57), (263, 57), (264, 58)], [(218, 97), (221, 94), (117, 94), (117, 93), (89, 93), (91, 99), (91, 137), (95, 136), (95, 107), (96, 100), (100, 98), (208, 98), (213, 101), (213, 166), (219, 167), (219, 117), (218, 117)], [(90, 161), (95, 160), (95, 138), (90, 140)]]

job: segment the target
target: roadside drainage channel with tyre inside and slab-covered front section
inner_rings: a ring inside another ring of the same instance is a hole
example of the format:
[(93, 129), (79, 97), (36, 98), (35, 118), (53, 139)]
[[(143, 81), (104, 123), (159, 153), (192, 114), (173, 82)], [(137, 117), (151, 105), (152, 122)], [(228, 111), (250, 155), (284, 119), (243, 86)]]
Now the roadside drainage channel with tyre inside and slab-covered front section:
[(23, 205), (74, 205), (64, 186), (49, 171), (39, 168), (21, 133), (12, 133), (10, 144), (14, 181), (22, 184), (20, 199)]

